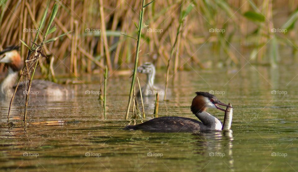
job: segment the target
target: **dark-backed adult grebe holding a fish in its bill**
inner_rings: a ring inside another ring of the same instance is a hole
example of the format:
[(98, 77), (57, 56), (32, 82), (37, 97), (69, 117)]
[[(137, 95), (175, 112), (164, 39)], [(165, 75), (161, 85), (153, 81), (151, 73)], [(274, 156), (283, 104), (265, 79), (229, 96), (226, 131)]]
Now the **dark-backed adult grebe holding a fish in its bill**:
[(155, 132), (194, 132), (203, 130), (222, 130), (221, 122), (206, 112), (207, 108), (217, 108), (226, 112), (218, 105), (232, 108), (221, 103), (214, 95), (207, 92), (196, 92), (192, 100), (191, 111), (201, 121), (186, 117), (158, 117), (135, 126), (126, 126), (129, 130), (147, 130)]

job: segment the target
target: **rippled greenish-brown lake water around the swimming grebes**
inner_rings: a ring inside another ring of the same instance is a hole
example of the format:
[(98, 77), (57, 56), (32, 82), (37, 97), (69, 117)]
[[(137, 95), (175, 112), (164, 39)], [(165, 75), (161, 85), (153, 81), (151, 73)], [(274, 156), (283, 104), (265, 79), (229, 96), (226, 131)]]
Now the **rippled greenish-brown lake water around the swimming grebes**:
[[(21, 107), (11, 113), (15, 126), (8, 126), (7, 107), (2, 105), (0, 170), (297, 171), (297, 67), (246, 65), (239, 69), (179, 72), (169, 82), (170, 100), (159, 106), (159, 116), (195, 119), (189, 108), (194, 92), (213, 90), (219, 100), (235, 108), (232, 132), (122, 130), (130, 122), (140, 122), (123, 120), (129, 76), (108, 79), (106, 119), (98, 96), (85, 94), (99, 91), (95, 76), (80, 77), (89, 84), (71, 85), (77, 92), (72, 98), (31, 104), (26, 126)], [(156, 83), (162, 86), (163, 73)], [(146, 100), (147, 120), (153, 117), (153, 103), (154, 99)], [(223, 121), (224, 112), (208, 112)], [(41, 123), (45, 121), (60, 122)]]

